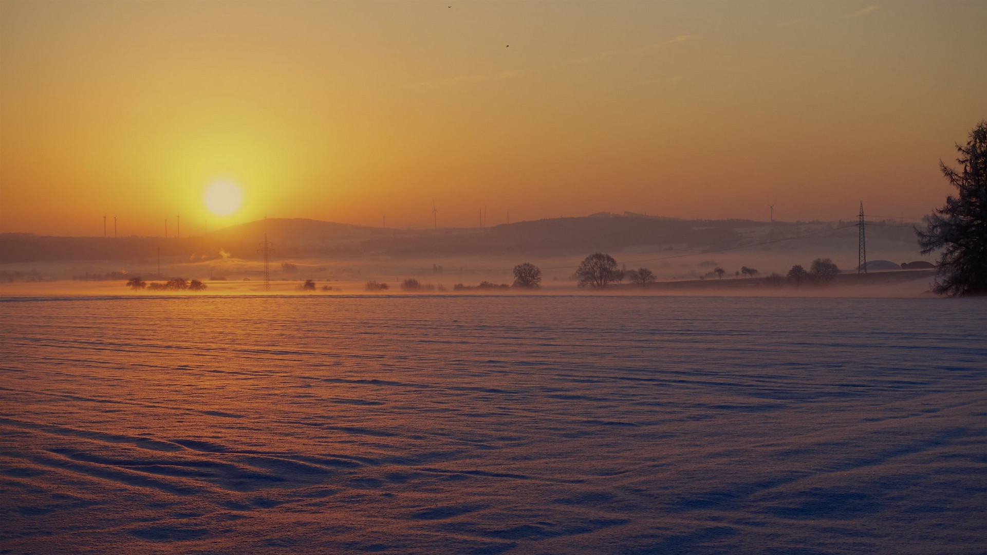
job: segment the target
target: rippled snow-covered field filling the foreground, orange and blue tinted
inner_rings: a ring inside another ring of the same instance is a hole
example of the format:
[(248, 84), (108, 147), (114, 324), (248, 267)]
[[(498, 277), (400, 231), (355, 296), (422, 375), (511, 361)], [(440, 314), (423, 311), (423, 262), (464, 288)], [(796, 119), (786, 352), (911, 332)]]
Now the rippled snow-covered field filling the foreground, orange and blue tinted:
[(0, 551), (982, 553), (987, 299), (0, 298)]

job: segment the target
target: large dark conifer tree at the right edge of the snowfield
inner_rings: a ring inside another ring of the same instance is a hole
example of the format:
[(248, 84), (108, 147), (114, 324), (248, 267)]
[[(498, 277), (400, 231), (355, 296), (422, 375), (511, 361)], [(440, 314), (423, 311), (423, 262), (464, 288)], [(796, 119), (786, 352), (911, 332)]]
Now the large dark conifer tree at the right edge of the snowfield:
[(925, 217), (916, 229), (922, 254), (943, 249), (933, 290), (948, 295), (987, 294), (987, 119), (970, 131), (966, 146), (956, 145), (960, 169), (939, 163), (958, 195)]

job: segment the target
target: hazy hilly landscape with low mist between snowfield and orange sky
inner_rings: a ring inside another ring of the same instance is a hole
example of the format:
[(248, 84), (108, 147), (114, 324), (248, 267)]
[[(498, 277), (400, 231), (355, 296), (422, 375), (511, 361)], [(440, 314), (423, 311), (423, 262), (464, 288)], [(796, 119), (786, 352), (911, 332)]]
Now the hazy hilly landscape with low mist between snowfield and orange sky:
[[(914, 226), (896, 220), (868, 225), (872, 273), (935, 260), (918, 254)], [(661, 282), (689, 281), (686, 288), (693, 292), (809, 295), (833, 291), (767, 279), (772, 274), (784, 277), (794, 265), (808, 268), (816, 258), (831, 258), (845, 272), (856, 274), (858, 227), (841, 221), (681, 220), (600, 213), (491, 228), (387, 229), (269, 218), (188, 238), (4, 234), (0, 278), (6, 279), (0, 281), (0, 291), (112, 294), (114, 287), (124, 289), (127, 278), (139, 276), (197, 278), (215, 293), (266, 292), (259, 282), (264, 279), (259, 247), (265, 237), (273, 248), (269, 290), (279, 293), (297, 292), (306, 279), (316, 281), (319, 292), (363, 292), (370, 280), (388, 283), (394, 292), (408, 278), (432, 287), (423, 290), (451, 292), (456, 284), (510, 284), (514, 266), (525, 262), (542, 270), (542, 292), (571, 292), (579, 262), (604, 252), (625, 270), (648, 268), (658, 281), (641, 290), (625, 280), (612, 290), (667, 292), (677, 285)], [(714, 275), (719, 267), (724, 276)], [(747, 267), (758, 271), (757, 278), (736, 279), (735, 274)], [(928, 290), (932, 278), (929, 272), (899, 274), (893, 279), (874, 275), (867, 281), (842, 277), (832, 289), (857, 294), (850, 286), (865, 285), (863, 290), (872, 295), (911, 296)], [(59, 281), (38, 283), (45, 279)], [(707, 282), (696, 282), (700, 279)]]

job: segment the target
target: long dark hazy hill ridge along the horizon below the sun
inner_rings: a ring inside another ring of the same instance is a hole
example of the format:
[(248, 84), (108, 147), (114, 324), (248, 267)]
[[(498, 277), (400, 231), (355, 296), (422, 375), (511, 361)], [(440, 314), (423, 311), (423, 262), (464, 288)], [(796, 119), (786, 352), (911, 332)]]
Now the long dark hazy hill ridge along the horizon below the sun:
[[(815, 222), (816, 227), (822, 225)], [(835, 223), (829, 227), (835, 228)], [(824, 230), (825, 231), (825, 230)], [(834, 229), (833, 233), (840, 233)], [(303, 218), (267, 218), (182, 239), (158, 237), (47, 237), (0, 234), (0, 264), (152, 259), (161, 256), (232, 256), (256, 259), (267, 240), (278, 256), (418, 257), (569, 256), (596, 251), (619, 253), (646, 246), (730, 248), (758, 238), (796, 236), (799, 224), (751, 220), (683, 220), (643, 214), (601, 212), (589, 216), (540, 219), (490, 228), (384, 229)], [(869, 226), (868, 233), (902, 235), (903, 228)], [(906, 237), (907, 236), (907, 237)]]

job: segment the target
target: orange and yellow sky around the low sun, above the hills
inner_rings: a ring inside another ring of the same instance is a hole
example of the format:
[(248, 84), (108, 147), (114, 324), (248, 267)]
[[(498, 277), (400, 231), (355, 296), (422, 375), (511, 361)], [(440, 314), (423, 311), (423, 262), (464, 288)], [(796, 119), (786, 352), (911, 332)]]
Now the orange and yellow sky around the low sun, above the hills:
[(0, 232), (915, 219), (987, 118), (985, 25), (985, 2), (6, 0)]

